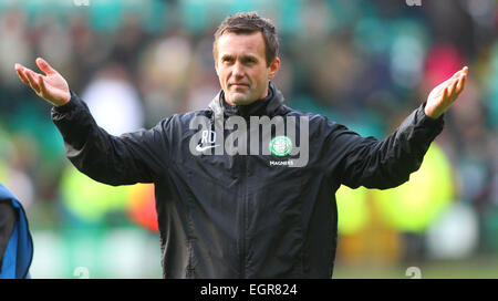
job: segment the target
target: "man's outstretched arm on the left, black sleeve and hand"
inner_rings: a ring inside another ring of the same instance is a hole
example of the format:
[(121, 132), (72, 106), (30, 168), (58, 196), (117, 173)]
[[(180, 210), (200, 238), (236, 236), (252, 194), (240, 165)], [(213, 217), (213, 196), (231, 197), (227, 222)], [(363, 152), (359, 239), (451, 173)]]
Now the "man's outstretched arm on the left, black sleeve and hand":
[(148, 131), (110, 135), (97, 126), (86, 104), (70, 91), (59, 72), (40, 58), (37, 65), (45, 75), (20, 64), (15, 71), (37, 95), (54, 105), (52, 121), (62, 134), (68, 158), (80, 172), (111, 185), (151, 183), (164, 173), (166, 120)]

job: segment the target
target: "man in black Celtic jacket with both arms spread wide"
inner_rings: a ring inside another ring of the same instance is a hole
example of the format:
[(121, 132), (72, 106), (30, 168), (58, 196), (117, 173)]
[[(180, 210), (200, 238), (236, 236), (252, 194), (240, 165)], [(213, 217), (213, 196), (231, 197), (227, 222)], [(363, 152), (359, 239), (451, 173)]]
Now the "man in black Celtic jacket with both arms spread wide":
[[(208, 108), (120, 137), (95, 124), (44, 60), (37, 64), (45, 75), (15, 65), (20, 79), (54, 105), (52, 118), (66, 155), (81, 172), (111, 185), (155, 184), (165, 278), (330, 278), (335, 190), (341, 184), (388, 188), (406, 181), (442, 131), (442, 114), (467, 76), (465, 68), (438, 85), (396, 132), (376, 141), (282, 104), (270, 81), (280, 59), (269, 20), (230, 15), (215, 33), (214, 56), (221, 91)], [(303, 123), (288, 123), (292, 118)], [(286, 123), (274, 122), (262, 133), (268, 125), (262, 120)], [(282, 124), (283, 134), (276, 136)], [(270, 144), (261, 143), (268, 132)], [(226, 136), (234, 133), (235, 153), (234, 136)], [(298, 141), (309, 152), (295, 167)]]

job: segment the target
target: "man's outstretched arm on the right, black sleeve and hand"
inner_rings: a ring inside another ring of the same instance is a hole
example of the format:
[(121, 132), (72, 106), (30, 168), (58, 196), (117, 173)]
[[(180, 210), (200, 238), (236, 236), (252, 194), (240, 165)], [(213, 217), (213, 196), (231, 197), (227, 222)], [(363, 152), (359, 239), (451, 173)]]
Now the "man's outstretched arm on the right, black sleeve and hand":
[(335, 126), (328, 143), (330, 153), (335, 149), (339, 154), (331, 158), (330, 166), (335, 167), (331, 173), (350, 187), (391, 188), (408, 180), (443, 131), (442, 115), (464, 90), (467, 72), (464, 68), (437, 85), (427, 101), (383, 141)]

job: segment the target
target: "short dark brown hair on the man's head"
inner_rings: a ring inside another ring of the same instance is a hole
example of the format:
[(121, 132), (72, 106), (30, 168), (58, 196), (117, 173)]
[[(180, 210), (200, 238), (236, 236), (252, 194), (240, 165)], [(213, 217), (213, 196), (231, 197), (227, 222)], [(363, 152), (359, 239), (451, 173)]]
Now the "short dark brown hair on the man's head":
[(215, 32), (215, 42), (212, 44), (212, 55), (217, 56), (217, 42), (218, 39), (226, 32), (232, 32), (237, 34), (248, 34), (259, 31), (263, 35), (264, 40), (264, 54), (267, 59), (267, 65), (279, 54), (279, 40), (277, 37), (277, 29), (271, 20), (261, 18), (257, 12), (238, 12), (236, 14), (228, 15)]

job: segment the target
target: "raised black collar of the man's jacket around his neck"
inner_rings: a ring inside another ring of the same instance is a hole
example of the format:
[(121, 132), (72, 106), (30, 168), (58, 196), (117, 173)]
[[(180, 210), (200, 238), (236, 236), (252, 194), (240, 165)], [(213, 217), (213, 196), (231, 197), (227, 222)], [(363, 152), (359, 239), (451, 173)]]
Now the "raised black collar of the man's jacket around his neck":
[(215, 118), (224, 118), (230, 116), (242, 116), (248, 118), (249, 116), (274, 116), (283, 104), (283, 94), (274, 86), (270, 81), (268, 84), (268, 96), (262, 100), (248, 105), (230, 105), (225, 101), (225, 93), (221, 90), (209, 104), (209, 108), (212, 110)]

